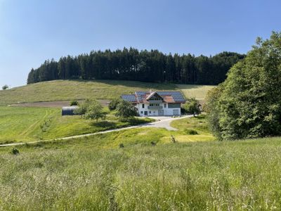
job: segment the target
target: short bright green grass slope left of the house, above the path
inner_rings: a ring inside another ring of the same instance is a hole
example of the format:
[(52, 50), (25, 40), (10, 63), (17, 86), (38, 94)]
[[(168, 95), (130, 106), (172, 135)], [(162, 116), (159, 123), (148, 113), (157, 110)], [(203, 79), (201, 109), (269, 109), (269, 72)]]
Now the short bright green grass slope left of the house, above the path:
[(117, 117), (107, 115), (106, 120), (96, 122), (84, 120), (79, 115), (62, 116), (60, 108), (0, 107), (0, 144), (88, 134), (151, 121), (121, 122)]

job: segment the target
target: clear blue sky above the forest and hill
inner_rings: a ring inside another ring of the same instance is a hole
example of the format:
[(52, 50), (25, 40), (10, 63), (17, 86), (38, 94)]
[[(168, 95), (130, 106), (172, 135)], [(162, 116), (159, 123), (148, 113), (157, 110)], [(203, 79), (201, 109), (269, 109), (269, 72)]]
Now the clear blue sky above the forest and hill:
[[(0, 86), (46, 59), (91, 50), (247, 53), (281, 30), (280, 0), (0, 0)], [(1, 100), (1, 99), (0, 99)]]

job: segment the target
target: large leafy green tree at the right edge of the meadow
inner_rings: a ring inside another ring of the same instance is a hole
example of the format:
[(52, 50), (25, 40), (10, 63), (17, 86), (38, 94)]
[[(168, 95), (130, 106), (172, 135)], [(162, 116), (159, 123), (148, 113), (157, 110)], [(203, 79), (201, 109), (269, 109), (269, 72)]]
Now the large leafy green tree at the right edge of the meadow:
[[(221, 86), (218, 136), (243, 139), (281, 135), (281, 33), (258, 38)], [(216, 94), (213, 95), (216, 98)], [(211, 106), (210, 106), (211, 107)], [(214, 112), (211, 111), (211, 112)]]

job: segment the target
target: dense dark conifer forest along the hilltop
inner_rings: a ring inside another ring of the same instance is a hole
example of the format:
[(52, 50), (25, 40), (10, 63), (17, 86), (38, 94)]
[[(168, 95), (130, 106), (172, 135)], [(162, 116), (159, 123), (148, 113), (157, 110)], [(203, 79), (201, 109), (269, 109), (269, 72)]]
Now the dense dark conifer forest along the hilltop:
[(141, 82), (181, 84), (219, 84), (238, 60), (239, 53), (223, 52), (213, 57), (174, 54), (160, 51), (91, 51), (89, 54), (46, 60), (32, 69), (27, 84), (55, 79), (123, 79)]

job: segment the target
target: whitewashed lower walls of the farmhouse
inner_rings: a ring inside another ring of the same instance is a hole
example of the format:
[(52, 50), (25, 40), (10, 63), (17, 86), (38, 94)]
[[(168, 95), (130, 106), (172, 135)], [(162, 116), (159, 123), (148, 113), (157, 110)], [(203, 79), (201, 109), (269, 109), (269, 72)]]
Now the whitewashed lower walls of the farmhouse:
[(138, 114), (140, 116), (146, 116), (146, 112), (147, 116), (158, 116), (161, 115), (159, 114), (159, 110), (164, 110), (164, 116), (181, 115), (181, 108), (168, 108), (168, 103), (159, 103), (159, 106), (162, 106), (162, 109), (151, 109), (148, 108), (149, 106), (150, 103), (136, 103), (135, 107), (138, 109)]

